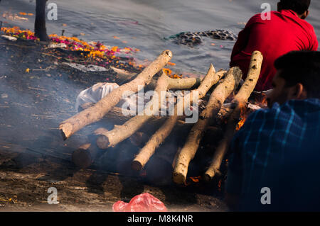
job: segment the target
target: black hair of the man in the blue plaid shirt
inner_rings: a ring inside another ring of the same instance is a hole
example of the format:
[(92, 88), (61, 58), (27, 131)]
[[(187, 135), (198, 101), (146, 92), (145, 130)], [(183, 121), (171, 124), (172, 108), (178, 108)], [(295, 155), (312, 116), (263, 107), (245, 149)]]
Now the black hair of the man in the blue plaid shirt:
[(301, 83), (308, 98), (320, 98), (320, 52), (289, 52), (279, 57), (274, 67), (281, 70), (279, 77), (286, 80), (287, 87)]

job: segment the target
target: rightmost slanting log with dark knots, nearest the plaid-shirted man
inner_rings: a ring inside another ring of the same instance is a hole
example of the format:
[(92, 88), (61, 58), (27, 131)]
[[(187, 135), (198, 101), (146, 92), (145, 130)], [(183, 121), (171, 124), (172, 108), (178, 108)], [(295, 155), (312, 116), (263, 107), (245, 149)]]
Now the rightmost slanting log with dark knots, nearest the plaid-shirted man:
[(213, 179), (215, 174), (219, 173), (220, 165), (223, 161), (223, 157), (228, 151), (229, 144), (233, 139), (235, 133), (235, 128), (238, 125), (240, 112), (242, 108), (245, 108), (248, 98), (250, 97), (252, 91), (255, 89), (257, 80), (260, 76), (261, 65), (262, 65), (262, 53), (255, 51), (252, 53), (252, 58), (250, 62), (249, 72), (247, 74), (247, 79), (245, 83), (241, 86), (240, 91), (234, 98), (235, 110), (231, 113), (228, 119), (227, 129), (225, 130), (225, 135), (223, 140), (221, 140), (218, 148), (215, 151), (213, 161), (210, 164), (208, 170), (204, 174), (204, 179), (210, 181)]

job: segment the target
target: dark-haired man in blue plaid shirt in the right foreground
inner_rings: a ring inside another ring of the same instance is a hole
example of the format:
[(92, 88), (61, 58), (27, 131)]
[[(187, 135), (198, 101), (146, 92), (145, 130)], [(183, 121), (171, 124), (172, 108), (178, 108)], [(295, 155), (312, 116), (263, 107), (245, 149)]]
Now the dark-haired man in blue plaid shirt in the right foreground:
[(226, 200), (234, 210), (320, 210), (320, 52), (279, 57), (268, 109), (230, 145)]

